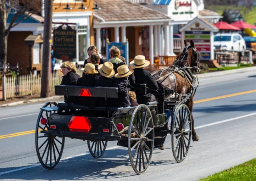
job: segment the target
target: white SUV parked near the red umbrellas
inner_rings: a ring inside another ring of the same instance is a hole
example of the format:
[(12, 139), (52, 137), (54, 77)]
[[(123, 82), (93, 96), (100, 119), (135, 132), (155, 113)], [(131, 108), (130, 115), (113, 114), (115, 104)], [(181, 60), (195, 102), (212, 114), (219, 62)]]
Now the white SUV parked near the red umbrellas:
[(244, 52), (246, 44), (244, 38), (238, 33), (218, 33), (214, 35), (215, 49)]

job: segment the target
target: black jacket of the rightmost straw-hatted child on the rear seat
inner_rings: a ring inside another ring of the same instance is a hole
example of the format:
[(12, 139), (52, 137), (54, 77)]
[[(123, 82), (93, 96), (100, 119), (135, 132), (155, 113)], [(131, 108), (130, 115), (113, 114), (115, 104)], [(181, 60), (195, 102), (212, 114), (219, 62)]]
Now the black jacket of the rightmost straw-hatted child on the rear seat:
[(112, 102), (113, 107), (129, 107), (130, 97), (128, 96), (129, 81), (126, 78), (116, 78), (113, 81), (113, 87), (118, 88), (118, 98)]

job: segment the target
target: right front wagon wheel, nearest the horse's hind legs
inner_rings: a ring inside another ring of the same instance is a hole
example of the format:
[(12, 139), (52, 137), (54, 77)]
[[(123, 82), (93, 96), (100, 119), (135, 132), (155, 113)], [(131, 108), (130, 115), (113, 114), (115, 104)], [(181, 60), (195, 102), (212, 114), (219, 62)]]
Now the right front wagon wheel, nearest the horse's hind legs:
[(181, 162), (189, 152), (191, 140), (191, 114), (187, 105), (179, 105), (173, 114), (172, 153), (176, 161)]

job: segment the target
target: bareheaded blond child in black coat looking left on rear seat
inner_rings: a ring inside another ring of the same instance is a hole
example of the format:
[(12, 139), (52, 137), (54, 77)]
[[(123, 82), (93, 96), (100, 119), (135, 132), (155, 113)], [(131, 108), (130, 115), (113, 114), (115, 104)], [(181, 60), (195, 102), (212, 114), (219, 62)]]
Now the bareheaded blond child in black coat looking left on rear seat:
[[(61, 65), (61, 73), (63, 73), (60, 85), (77, 85), (80, 76), (77, 74), (77, 68), (72, 62), (63, 62)], [(67, 103), (67, 97), (64, 96), (64, 102)], [(76, 103), (76, 97), (69, 96), (69, 103)]]

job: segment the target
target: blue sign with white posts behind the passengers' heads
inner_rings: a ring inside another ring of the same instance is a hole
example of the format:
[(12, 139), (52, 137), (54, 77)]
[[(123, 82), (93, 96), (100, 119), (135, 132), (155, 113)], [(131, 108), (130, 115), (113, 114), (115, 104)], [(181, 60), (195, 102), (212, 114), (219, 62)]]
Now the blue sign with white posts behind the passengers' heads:
[(111, 47), (118, 47), (121, 52), (121, 56), (123, 56), (126, 60), (126, 64), (129, 65), (129, 43), (128, 42), (108, 42), (106, 43), (106, 59), (107, 61), (110, 59), (109, 49)]

